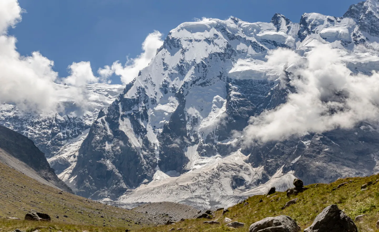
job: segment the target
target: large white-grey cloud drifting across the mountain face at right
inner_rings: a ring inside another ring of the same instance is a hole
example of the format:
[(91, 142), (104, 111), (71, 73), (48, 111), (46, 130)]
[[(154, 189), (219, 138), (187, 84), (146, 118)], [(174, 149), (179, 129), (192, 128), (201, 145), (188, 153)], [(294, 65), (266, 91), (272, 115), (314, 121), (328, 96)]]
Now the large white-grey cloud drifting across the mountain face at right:
[(282, 67), (280, 82), (289, 81), (296, 92), (288, 94), (286, 103), (251, 117), (243, 131), (245, 140), (267, 142), (305, 131), (322, 133), (377, 121), (379, 73), (354, 74), (341, 54), (325, 44), (304, 56), (286, 49), (271, 52), (268, 63)]

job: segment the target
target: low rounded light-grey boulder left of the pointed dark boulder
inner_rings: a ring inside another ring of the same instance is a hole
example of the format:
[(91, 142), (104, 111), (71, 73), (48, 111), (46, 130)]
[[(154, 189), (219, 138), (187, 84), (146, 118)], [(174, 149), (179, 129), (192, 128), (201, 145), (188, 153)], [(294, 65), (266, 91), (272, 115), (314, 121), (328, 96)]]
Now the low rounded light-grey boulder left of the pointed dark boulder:
[(286, 215), (265, 218), (251, 224), (249, 232), (300, 232), (296, 222)]

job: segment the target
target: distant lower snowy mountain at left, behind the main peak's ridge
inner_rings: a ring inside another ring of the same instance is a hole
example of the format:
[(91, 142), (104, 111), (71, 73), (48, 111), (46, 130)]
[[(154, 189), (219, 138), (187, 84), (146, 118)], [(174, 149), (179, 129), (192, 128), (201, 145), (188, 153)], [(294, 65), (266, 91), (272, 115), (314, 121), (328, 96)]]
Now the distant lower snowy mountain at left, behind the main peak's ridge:
[(60, 174), (76, 162), (81, 141), (101, 109), (106, 110), (124, 88), (123, 85), (89, 84), (86, 86), (87, 109), (77, 106), (68, 85), (56, 84), (63, 112), (35, 113), (14, 104), (0, 104), (0, 125), (17, 131), (45, 153), (50, 166)]

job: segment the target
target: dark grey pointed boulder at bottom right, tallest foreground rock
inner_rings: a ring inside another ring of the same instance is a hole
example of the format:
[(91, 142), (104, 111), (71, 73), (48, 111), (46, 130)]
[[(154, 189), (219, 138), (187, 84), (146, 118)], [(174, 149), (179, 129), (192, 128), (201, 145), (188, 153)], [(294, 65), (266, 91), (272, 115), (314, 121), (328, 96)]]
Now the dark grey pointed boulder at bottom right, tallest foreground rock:
[(357, 232), (357, 226), (337, 205), (329, 205), (304, 232)]

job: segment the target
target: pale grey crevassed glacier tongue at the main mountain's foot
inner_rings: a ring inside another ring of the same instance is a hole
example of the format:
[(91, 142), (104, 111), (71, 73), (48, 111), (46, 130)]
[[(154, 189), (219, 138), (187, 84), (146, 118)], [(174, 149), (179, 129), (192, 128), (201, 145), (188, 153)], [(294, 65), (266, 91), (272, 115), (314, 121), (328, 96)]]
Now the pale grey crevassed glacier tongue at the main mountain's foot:
[(294, 175), (291, 172), (283, 174), (282, 169), (267, 183), (260, 185), (264, 168), (253, 168), (245, 162), (246, 159), (248, 156), (238, 150), (225, 158), (210, 159), (209, 163), (205, 162), (179, 177), (169, 177), (157, 170), (151, 182), (119, 197), (116, 204), (165, 200), (201, 209), (230, 207), (247, 196), (266, 194), (271, 186), (275, 186), (278, 191), (285, 191), (292, 185)]

